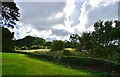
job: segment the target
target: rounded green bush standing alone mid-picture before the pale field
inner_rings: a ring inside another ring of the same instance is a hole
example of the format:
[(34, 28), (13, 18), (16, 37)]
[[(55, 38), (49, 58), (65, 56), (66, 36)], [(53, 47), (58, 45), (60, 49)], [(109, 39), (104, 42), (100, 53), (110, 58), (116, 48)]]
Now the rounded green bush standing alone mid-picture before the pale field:
[(58, 51), (64, 49), (64, 41), (61, 40), (54, 40), (51, 45), (51, 51)]

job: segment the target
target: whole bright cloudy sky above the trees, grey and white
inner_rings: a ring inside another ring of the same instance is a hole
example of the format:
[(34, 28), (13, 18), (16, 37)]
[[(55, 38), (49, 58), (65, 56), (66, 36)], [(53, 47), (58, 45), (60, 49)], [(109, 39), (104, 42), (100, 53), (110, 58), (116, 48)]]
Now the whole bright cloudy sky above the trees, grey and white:
[(68, 40), (70, 34), (93, 31), (97, 20), (118, 19), (119, 0), (15, 0), (20, 21), (16, 39), (27, 35), (46, 40)]

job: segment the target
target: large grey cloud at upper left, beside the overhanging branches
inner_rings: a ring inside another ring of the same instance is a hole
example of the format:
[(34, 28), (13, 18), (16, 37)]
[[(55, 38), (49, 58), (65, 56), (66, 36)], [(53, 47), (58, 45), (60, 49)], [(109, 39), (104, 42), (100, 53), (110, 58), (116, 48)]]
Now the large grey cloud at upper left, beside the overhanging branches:
[(64, 15), (55, 15), (63, 11), (65, 2), (18, 2), (20, 8), (20, 22), (24, 26), (31, 24), (37, 30), (50, 30), (53, 24), (64, 23)]

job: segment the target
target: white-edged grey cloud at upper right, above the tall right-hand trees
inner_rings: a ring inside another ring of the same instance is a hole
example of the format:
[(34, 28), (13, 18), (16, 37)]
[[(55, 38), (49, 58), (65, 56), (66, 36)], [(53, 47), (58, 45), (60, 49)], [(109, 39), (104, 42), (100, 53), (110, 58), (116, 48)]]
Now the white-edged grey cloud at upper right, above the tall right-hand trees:
[(91, 26), (98, 20), (118, 19), (118, 2), (116, 1), (118, 0), (85, 1), (81, 8), (81, 15), (79, 16), (79, 27), (84, 27), (85, 30), (93, 30)]

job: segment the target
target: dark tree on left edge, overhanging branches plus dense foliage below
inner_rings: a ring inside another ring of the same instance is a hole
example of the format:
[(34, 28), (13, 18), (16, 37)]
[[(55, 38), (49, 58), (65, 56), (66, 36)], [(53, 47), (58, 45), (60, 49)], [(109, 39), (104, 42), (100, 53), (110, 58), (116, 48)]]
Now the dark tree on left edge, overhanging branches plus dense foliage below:
[(3, 28), (5, 25), (7, 27), (14, 28), (16, 21), (18, 20), (19, 9), (16, 7), (16, 4), (13, 2), (0, 2), (0, 11), (1, 11), (1, 18), (0, 18), (0, 29), (2, 29), (2, 51), (13, 51), (14, 50), (14, 43), (13, 37), (14, 33), (11, 33), (7, 28)]

